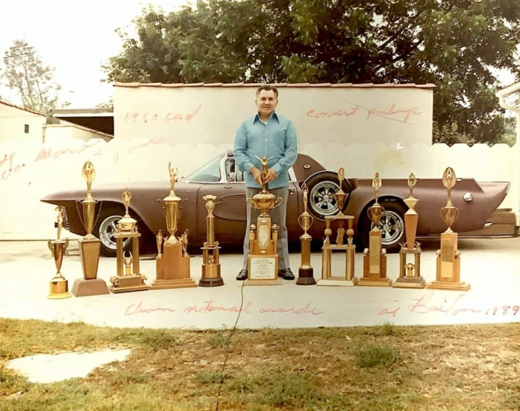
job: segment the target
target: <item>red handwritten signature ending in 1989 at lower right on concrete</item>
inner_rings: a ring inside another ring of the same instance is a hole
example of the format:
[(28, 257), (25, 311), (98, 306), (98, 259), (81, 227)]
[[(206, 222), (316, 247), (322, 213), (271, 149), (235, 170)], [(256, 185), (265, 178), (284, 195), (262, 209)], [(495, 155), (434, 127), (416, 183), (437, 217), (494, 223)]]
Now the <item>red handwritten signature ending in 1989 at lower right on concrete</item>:
[[(465, 298), (465, 295), (459, 295), (456, 298), (454, 298), (451, 302), (444, 301), (444, 303), (438, 304), (438, 303), (428, 303), (433, 297), (432, 294), (426, 294), (422, 296), (421, 298), (411, 298), (411, 303), (408, 304), (408, 306), (405, 306), (404, 308), (400, 305), (396, 307), (388, 307), (383, 308), (379, 311), (379, 315), (385, 315), (389, 314), (393, 317), (396, 316), (396, 314), (401, 310), (408, 309), (408, 312), (415, 313), (415, 314), (426, 314), (431, 312), (441, 312), (445, 313), (446, 315), (457, 315), (459, 313), (463, 312), (471, 312), (471, 313), (486, 313), (486, 315), (496, 315), (500, 309), (502, 309), (502, 314), (506, 315), (508, 313), (512, 313), (513, 315), (516, 315), (518, 311), (520, 311), (520, 306), (502, 306), (502, 307), (490, 307), (487, 310), (482, 308), (476, 308), (476, 307), (470, 307), (462, 306), (462, 300)], [(395, 303), (398, 303), (399, 301), (393, 301)], [(511, 311), (509, 311), (511, 310)]]

